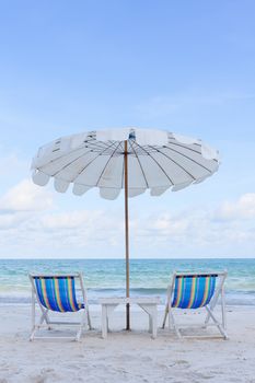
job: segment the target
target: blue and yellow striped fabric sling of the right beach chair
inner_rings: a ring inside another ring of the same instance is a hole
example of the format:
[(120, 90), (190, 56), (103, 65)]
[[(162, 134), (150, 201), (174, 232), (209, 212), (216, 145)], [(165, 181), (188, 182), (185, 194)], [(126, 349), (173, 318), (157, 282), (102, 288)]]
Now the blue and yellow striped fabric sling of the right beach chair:
[(176, 276), (172, 307), (198, 309), (207, 305), (216, 289), (217, 275)]

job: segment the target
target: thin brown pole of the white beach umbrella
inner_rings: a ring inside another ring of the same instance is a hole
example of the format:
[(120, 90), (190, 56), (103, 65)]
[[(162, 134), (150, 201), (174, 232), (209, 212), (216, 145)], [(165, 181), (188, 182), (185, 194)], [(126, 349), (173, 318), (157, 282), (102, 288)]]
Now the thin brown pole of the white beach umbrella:
[[(125, 242), (126, 242), (126, 297), (129, 298), (129, 228), (128, 228), (128, 151), (127, 140), (124, 148), (124, 175), (125, 175)], [(130, 329), (130, 306), (126, 305), (126, 329)]]

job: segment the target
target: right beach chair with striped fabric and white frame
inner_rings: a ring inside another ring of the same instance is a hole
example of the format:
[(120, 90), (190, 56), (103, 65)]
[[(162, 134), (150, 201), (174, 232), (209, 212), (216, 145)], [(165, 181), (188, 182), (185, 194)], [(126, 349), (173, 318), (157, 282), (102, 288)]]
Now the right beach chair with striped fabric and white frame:
[[(218, 327), (224, 339), (228, 338), (225, 332), (225, 302), (224, 302), (224, 280), (227, 271), (222, 272), (174, 272), (172, 283), (167, 288), (167, 300), (163, 328), (169, 316), (169, 326), (173, 328), (178, 337), (182, 337), (181, 328), (174, 318), (174, 310), (197, 310), (205, 309), (207, 316), (202, 328), (208, 325)], [(221, 321), (218, 321), (213, 310), (221, 295)], [(210, 322), (211, 320), (211, 322)], [(210, 322), (210, 323), (209, 323)], [(182, 327), (184, 327), (182, 325)], [(190, 327), (190, 326), (189, 326)], [(188, 336), (190, 337), (190, 336)]]

